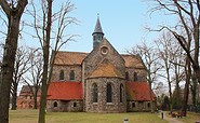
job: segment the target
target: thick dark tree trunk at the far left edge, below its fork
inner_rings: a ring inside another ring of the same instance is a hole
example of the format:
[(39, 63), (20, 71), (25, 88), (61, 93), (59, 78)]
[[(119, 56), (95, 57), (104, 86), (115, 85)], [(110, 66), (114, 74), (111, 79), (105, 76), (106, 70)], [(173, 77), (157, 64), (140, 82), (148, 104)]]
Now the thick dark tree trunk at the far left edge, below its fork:
[(0, 123), (9, 122), (9, 104), (11, 83), (13, 81), (14, 62), (17, 49), (19, 17), (10, 16), (8, 37), (2, 62), (2, 82), (0, 88)]

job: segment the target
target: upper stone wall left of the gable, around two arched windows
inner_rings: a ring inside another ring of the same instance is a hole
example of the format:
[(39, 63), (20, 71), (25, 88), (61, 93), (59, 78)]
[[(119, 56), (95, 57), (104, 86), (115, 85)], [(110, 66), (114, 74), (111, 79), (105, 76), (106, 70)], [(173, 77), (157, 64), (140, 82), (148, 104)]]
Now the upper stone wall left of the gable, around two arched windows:
[[(64, 80), (59, 80), (59, 71), (64, 70)], [(70, 71), (75, 71), (75, 82), (81, 82), (81, 66), (75, 65), (75, 66), (56, 66), (53, 67), (53, 73), (52, 73), (52, 82), (59, 82), (59, 81), (71, 81), (69, 79)]]

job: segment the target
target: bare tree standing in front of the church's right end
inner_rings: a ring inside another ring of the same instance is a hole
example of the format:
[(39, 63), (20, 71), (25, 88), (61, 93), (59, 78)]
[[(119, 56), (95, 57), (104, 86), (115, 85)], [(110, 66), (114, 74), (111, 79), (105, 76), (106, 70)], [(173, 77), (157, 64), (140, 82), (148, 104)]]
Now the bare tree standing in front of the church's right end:
[(149, 96), (150, 96), (150, 109), (151, 113), (155, 112), (155, 107), (152, 104), (152, 84), (156, 84), (157, 80), (157, 72), (159, 71), (160, 67), (158, 64), (158, 55), (154, 47), (148, 46), (145, 42), (141, 45), (136, 45), (133, 47), (132, 54), (138, 54), (147, 69), (147, 81), (149, 83)]

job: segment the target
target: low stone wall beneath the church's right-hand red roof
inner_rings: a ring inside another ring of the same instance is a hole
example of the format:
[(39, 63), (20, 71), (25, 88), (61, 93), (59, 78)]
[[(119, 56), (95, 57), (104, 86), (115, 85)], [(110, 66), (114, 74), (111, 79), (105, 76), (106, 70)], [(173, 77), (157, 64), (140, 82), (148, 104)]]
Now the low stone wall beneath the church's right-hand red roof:
[[(156, 102), (154, 101), (156, 110)], [(150, 111), (150, 101), (128, 101), (128, 111)]]

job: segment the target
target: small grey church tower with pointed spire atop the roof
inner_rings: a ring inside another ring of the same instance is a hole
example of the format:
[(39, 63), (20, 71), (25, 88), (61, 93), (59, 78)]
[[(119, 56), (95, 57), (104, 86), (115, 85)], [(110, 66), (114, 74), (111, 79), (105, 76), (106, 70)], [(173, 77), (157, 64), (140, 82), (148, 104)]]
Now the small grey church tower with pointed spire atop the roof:
[(93, 36), (93, 49), (94, 49), (99, 44), (99, 42), (104, 38), (104, 32), (102, 30), (99, 16), (97, 16), (96, 26), (95, 26), (95, 29), (94, 29), (94, 32), (92, 33), (92, 36)]

